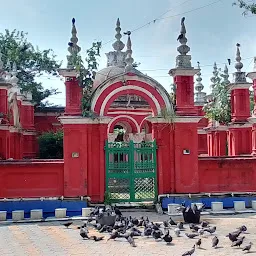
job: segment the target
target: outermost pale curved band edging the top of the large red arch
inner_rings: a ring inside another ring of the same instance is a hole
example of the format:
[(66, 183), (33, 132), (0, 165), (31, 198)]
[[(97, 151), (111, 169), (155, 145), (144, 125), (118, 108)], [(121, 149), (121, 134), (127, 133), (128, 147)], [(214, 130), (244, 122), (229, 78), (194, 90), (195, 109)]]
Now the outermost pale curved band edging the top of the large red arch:
[[(161, 88), (160, 86), (160, 84), (158, 85), (157, 84), (157, 82), (153, 82), (152, 80), (150, 80), (150, 79), (152, 79), (152, 78), (148, 78), (148, 79), (146, 79), (146, 77), (139, 77), (139, 76), (127, 76), (127, 75), (124, 75), (124, 76), (122, 76), (122, 77), (117, 77), (116, 79), (114, 79), (114, 80), (111, 80), (111, 81), (109, 81), (108, 83), (106, 83), (106, 84), (104, 84), (102, 87), (101, 87), (101, 85), (96, 89), (96, 93), (95, 93), (95, 95), (94, 95), (94, 97), (93, 97), (93, 99), (92, 99), (92, 105), (91, 105), (91, 108), (92, 108), (92, 110), (94, 110), (95, 109), (95, 106), (96, 106), (96, 104), (97, 104), (97, 101), (98, 101), (98, 99), (99, 99), (99, 97), (101, 96), (101, 94), (110, 86), (110, 85), (112, 85), (112, 84), (114, 84), (114, 83), (117, 83), (117, 82), (122, 82), (123, 80), (129, 80), (129, 81), (139, 81), (139, 82), (143, 82), (143, 83), (145, 83), (145, 84), (147, 84), (147, 85), (149, 85), (149, 86), (151, 86), (153, 89), (155, 89), (157, 92), (158, 92), (158, 94), (162, 97), (162, 99), (163, 99), (163, 101), (164, 101), (164, 103), (165, 103), (165, 106), (166, 106), (166, 108), (167, 108), (167, 110), (168, 111), (172, 111), (172, 105), (171, 105), (171, 102), (170, 102), (170, 100), (169, 100), (169, 98), (168, 98), (168, 95), (167, 95), (167, 91), (165, 91), (165, 89), (164, 89), (164, 87), (163, 88)], [(127, 86), (125, 86), (125, 87), (127, 87)], [(133, 86), (134, 87), (134, 86)]]

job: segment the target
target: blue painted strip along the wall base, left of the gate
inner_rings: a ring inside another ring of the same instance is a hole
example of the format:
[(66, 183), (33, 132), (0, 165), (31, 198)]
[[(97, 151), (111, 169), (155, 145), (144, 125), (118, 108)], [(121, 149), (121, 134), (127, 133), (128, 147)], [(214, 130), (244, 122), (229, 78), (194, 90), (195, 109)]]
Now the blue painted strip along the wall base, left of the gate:
[(82, 208), (87, 207), (86, 201), (78, 200), (28, 200), (0, 202), (0, 211), (7, 211), (7, 219), (12, 218), (12, 211), (23, 210), (25, 218), (30, 217), (30, 210), (42, 209), (43, 217), (54, 217), (56, 208), (67, 208), (67, 216), (81, 216)]

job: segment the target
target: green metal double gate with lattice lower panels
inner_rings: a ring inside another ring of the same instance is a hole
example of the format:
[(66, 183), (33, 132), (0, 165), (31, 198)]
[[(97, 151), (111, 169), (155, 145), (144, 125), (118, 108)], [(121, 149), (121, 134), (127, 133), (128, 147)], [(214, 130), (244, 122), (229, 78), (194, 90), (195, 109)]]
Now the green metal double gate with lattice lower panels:
[(156, 142), (106, 142), (106, 192), (112, 202), (157, 197)]

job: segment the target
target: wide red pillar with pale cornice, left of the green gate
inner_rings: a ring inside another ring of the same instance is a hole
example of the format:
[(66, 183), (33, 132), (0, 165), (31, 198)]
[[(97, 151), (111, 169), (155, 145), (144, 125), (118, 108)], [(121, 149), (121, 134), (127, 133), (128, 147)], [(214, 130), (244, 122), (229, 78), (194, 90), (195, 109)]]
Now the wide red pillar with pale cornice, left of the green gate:
[(103, 202), (105, 152), (109, 118), (60, 118), (64, 130), (64, 196), (90, 196)]

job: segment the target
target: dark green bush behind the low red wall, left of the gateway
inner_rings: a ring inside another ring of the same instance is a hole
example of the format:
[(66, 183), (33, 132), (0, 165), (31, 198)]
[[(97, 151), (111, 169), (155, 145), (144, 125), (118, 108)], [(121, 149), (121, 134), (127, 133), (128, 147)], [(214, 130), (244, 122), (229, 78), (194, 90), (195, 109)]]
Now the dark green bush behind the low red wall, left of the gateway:
[(63, 131), (45, 132), (38, 137), (40, 159), (63, 158)]

